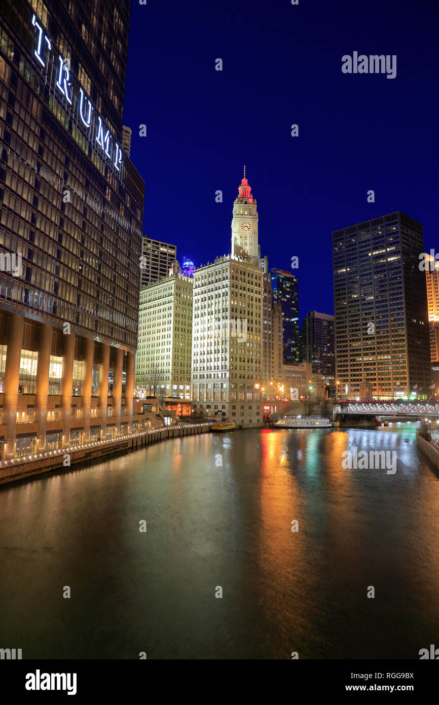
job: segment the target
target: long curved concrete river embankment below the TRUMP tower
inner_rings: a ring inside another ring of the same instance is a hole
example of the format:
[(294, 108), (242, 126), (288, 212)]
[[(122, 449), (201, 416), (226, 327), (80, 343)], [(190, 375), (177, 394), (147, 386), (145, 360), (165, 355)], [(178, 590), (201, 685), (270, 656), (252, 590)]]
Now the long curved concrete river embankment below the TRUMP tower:
[(50, 453), (37, 453), (28, 455), (25, 458), (15, 460), (3, 460), (0, 463), (0, 487), (9, 482), (34, 477), (44, 472), (63, 470), (80, 462), (99, 460), (114, 453), (123, 453), (128, 450), (136, 450), (158, 443), (163, 439), (176, 438), (178, 436), (192, 436), (193, 434), (206, 433), (211, 430), (212, 424), (184, 424), (182, 426), (166, 426), (162, 429), (142, 431), (123, 438), (110, 441), (96, 441), (94, 443), (84, 443), (74, 448), (63, 448)]

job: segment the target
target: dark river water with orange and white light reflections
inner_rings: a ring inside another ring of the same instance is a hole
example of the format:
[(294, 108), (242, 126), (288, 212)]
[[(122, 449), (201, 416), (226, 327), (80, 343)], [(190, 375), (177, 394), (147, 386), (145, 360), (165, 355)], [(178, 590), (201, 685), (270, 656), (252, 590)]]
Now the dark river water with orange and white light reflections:
[[(397, 472), (342, 470), (349, 446), (396, 450)], [(417, 659), (439, 644), (438, 534), (414, 424), (164, 441), (2, 489), (0, 646)]]

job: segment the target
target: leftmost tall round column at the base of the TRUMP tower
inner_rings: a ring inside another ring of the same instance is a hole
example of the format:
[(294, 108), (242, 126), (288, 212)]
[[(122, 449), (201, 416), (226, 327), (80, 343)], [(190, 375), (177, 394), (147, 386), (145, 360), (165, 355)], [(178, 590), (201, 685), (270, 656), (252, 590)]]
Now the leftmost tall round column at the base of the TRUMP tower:
[(9, 317), (8, 323), (8, 347), (3, 387), (3, 423), (7, 427), (4, 460), (12, 460), (16, 456), (18, 379), (20, 379), (23, 316), (13, 314)]

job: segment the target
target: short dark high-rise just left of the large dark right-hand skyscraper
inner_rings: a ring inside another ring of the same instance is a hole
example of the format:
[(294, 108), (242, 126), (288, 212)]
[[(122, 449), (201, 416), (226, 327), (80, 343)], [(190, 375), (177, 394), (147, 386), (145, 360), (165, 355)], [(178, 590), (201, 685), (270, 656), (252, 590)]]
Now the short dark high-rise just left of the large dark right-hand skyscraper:
[(303, 362), (311, 362), (312, 372), (324, 376), (335, 374), (335, 318), (309, 311), (302, 319)]

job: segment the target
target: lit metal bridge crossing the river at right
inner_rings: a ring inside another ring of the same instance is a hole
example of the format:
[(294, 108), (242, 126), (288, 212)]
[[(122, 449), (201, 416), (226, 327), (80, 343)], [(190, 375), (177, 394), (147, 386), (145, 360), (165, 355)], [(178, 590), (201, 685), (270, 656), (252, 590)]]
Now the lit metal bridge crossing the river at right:
[(376, 416), (379, 419), (398, 416), (439, 418), (439, 404), (410, 401), (347, 401), (334, 404), (334, 417), (336, 414)]

